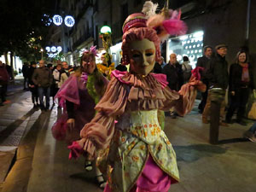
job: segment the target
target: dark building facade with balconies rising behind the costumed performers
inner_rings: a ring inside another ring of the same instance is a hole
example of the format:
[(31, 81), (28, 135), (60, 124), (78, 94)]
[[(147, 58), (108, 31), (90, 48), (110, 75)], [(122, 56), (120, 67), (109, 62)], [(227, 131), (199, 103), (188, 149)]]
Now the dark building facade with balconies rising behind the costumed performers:
[[(91, 45), (97, 45), (102, 49), (102, 39), (99, 32), (102, 26), (108, 25), (112, 29), (113, 59), (118, 63), (120, 59), (119, 50), (122, 38), (122, 25), (126, 17), (132, 13), (140, 12), (144, 0), (61, 0), (61, 9), (73, 15), (76, 24), (67, 31), (63, 30), (61, 43), (67, 49), (63, 49), (66, 59), (70, 62), (79, 63), (79, 55), (84, 49)], [(160, 8), (166, 3), (165, 0), (153, 1), (159, 3)], [(201, 46), (227, 44), (229, 53), (226, 56), (229, 63), (234, 61), (237, 51), (242, 46), (247, 46), (252, 55), (251, 61), (256, 53), (256, 2), (252, 0), (184, 0), (170, 1), (170, 8), (181, 9), (182, 19), (188, 25), (188, 34), (202, 32)], [(64, 35), (63, 35), (64, 34)], [(191, 36), (193, 37), (193, 36)], [(171, 37), (162, 46), (162, 55), (168, 61), (172, 49)], [(190, 41), (191, 42), (191, 41)], [(181, 43), (184, 45), (184, 42)], [(191, 44), (193, 47), (194, 44)], [(197, 45), (195, 45), (197, 46)], [(186, 46), (183, 46), (184, 48)], [(192, 49), (191, 49), (192, 50)], [(194, 58), (189, 50), (190, 58)], [(193, 50), (195, 54), (195, 50)], [(183, 52), (185, 53), (185, 52)], [(188, 51), (187, 51), (188, 53)], [(201, 52), (202, 54), (202, 52)]]

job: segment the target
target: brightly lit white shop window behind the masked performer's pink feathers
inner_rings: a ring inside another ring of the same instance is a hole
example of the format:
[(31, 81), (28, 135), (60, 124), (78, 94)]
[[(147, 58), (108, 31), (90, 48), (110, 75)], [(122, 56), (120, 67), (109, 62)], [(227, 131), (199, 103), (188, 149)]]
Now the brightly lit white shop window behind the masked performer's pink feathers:
[(189, 57), (189, 64), (195, 68), (197, 59), (202, 56), (204, 32), (194, 32), (177, 38), (169, 38), (166, 44), (166, 58), (175, 53), (177, 61), (183, 63), (183, 56)]

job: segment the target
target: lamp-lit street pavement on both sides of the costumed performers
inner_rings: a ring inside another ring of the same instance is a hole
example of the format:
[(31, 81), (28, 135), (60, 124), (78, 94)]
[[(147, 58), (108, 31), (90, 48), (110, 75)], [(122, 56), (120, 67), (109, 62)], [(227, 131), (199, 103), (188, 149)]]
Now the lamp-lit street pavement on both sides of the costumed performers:
[[(68, 160), (66, 143), (55, 141), (51, 126), (60, 109), (32, 108), (22, 79), (10, 86), (11, 103), (0, 107), (0, 192), (100, 192), (96, 174), (85, 172), (84, 159)], [(220, 127), (211, 145), (209, 125), (194, 110), (185, 117), (166, 117), (165, 132), (177, 154), (180, 183), (169, 192), (255, 192), (256, 143), (242, 138), (247, 126)], [(52, 103), (52, 102), (50, 102)]]

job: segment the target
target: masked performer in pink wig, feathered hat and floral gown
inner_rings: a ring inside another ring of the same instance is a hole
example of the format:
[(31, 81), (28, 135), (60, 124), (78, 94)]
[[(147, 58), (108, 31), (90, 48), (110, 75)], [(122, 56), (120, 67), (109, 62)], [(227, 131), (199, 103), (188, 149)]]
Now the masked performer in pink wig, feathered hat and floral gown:
[(130, 15), (123, 26), (123, 61), (130, 63), (131, 72), (113, 71), (96, 105), (96, 117), (77, 141), (92, 157), (109, 146), (105, 192), (167, 192), (171, 183), (178, 182), (176, 154), (160, 129), (157, 110), (174, 107), (180, 115), (189, 113), (197, 89), (206, 89), (192, 76), (181, 90), (173, 91), (165, 75), (150, 73), (154, 62), (160, 61), (160, 41), (167, 33), (183, 34), (186, 27), (177, 12), (168, 10), (167, 18), (154, 15), (155, 5), (146, 3), (152, 8)]

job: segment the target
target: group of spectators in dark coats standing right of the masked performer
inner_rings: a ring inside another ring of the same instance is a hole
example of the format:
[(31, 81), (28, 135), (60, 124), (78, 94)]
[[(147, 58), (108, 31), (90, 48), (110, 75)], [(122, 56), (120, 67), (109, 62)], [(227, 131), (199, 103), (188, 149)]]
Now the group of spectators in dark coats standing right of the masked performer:
[[(236, 114), (236, 122), (240, 125), (247, 125), (246, 107), (249, 94), (255, 89), (253, 84), (253, 67), (249, 63), (247, 51), (240, 50), (235, 58), (235, 62), (229, 65), (225, 60), (228, 47), (225, 44), (216, 46), (216, 54), (211, 46), (205, 46), (204, 55), (198, 58), (196, 67), (200, 68), (201, 81), (207, 85), (207, 91), (201, 93), (201, 103), (199, 104), (199, 112), (202, 113), (202, 123), (210, 122), (211, 108), (211, 91), (212, 88), (221, 88), (229, 90), (229, 105), (226, 105), (223, 95), (220, 108), (220, 125), (227, 126), (234, 123), (234, 113)], [(161, 67), (163, 66), (163, 67)], [(166, 74), (168, 86), (172, 90), (180, 90), (181, 86), (189, 81), (192, 67), (189, 65), (189, 58), (183, 56), (183, 63), (177, 62), (176, 54), (170, 55), (167, 65), (156, 63), (154, 73)], [(213, 90), (214, 90), (213, 89)], [(225, 114), (226, 111), (226, 114)], [(172, 118), (176, 118), (177, 113), (171, 112)]]

